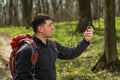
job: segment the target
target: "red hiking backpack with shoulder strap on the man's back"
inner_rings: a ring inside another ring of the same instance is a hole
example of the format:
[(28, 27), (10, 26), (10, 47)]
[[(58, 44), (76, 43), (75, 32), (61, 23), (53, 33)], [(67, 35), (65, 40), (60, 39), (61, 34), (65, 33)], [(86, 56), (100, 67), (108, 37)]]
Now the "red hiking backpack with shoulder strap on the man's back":
[(35, 76), (35, 64), (38, 59), (38, 49), (36, 43), (33, 41), (32, 37), (29, 34), (21, 34), (15, 36), (10, 41), (10, 45), (12, 47), (12, 52), (9, 57), (9, 65), (10, 71), (13, 78), (16, 75), (16, 55), (17, 51), (24, 45), (24, 43), (32, 45), (32, 56), (31, 56), (31, 63), (32, 63), (32, 76)]

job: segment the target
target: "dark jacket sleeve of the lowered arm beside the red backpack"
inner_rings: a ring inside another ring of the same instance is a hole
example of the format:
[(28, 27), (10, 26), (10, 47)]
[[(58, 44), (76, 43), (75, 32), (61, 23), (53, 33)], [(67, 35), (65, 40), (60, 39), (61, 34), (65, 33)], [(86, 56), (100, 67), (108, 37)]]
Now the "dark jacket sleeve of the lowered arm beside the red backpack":
[(25, 44), (16, 56), (16, 77), (14, 80), (31, 79), (31, 48)]

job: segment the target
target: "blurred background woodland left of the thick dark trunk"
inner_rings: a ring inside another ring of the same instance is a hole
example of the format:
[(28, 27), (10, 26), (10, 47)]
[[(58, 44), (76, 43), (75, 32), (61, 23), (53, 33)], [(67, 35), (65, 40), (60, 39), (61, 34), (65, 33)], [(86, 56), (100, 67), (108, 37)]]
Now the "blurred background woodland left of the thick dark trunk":
[(0, 26), (29, 26), (31, 17), (38, 13), (47, 13), (55, 21), (78, 20), (78, 2), (79, 0), (0, 0)]

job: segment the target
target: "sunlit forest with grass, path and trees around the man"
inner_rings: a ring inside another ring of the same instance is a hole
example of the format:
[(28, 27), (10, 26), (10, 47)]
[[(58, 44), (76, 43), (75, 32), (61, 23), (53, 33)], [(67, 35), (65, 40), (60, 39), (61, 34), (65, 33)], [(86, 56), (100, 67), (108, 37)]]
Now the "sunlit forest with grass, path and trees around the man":
[(12, 80), (10, 40), (33, 34), (33, 16), (53, 19), (52, 40), (73, 46), (87, 26), (94, 29), (90, 46), (74, 60), (57, 60), (57, 80), (119, 80), (120, 0), (0, 0), (0, 80)]

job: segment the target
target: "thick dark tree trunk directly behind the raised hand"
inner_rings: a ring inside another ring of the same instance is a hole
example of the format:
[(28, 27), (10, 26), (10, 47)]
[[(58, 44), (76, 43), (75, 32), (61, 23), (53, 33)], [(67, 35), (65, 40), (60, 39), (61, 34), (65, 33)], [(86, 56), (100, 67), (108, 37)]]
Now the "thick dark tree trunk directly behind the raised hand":
[(82, 33), (86, 30), (86, 27), (88, 26), (89, 21), (92, 24), (91, 19), (91, 6), (90, 6), (90, 0), (78, 0), (79, 3), (79, 24), (76, 28), (76, 32)]

